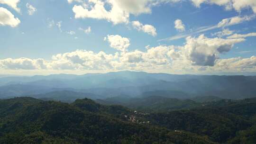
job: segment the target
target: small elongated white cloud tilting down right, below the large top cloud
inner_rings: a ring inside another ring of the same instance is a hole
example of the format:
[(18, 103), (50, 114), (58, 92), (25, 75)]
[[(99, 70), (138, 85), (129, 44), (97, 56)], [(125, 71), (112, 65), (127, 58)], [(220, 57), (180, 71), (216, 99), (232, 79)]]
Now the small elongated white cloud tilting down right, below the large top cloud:
[(149, 35), (156, 36), (156, 29), (152, 25), (143, 25), (139, 21), (132, 21), (132, 26), (138, 31), (143, 31)]

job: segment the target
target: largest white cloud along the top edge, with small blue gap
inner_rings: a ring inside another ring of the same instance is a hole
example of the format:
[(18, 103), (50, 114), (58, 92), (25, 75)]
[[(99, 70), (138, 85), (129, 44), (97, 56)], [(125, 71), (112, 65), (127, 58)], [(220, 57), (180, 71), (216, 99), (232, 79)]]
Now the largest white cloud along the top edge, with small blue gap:
[[(128, 23), (130, 14), (151, 13), (153, 6), (178, 1), (181, 0), (88, 0), (88, 3), (75, 5), (73, 12), (75, 18), (105, 19), (116, 25)], [(106, 6), (110, 6), (110, 10), (105, 9)]]

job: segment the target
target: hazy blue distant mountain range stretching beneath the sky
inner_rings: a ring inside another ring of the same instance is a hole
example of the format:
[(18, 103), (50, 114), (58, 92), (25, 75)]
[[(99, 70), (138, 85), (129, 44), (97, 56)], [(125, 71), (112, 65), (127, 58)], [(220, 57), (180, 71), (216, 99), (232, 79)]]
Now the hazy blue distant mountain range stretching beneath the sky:
[(256, 76), (176, 75), (147, 72), (108, 72), (84, 75), (54, 74), (0, 78), (0, 98), (72, 90), (101, 95), (131, 97), (163, 96), (188, 99), (217, 96), (244, 99), (256, 96)]

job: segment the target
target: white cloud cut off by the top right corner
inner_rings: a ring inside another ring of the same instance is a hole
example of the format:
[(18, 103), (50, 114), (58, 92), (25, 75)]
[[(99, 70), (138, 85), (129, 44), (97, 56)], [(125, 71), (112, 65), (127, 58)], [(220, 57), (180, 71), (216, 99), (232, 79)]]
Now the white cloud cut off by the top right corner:
[(235, 9), (240, 12), (242, 9), (251, 8), (256, 13), (255, 0), (191, 0), (196, 7), (200, 7), (202, 3), (216, 4), (224, 6), (225, 9)]

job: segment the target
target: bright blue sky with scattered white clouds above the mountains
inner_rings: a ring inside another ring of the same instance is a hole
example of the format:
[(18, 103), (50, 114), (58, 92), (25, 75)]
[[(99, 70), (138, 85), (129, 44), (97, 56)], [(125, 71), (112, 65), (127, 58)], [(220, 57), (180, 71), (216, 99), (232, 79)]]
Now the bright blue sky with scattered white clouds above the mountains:
[(0, 74), (256, 72), (256, 0), (0, 0)]

